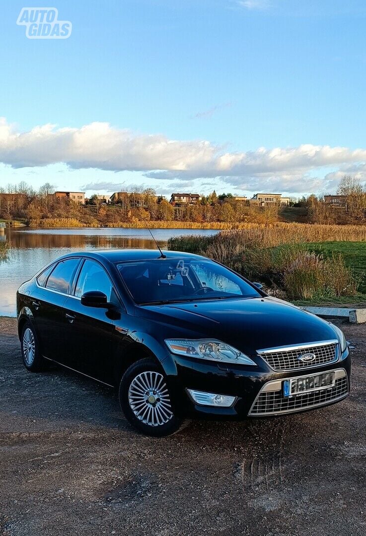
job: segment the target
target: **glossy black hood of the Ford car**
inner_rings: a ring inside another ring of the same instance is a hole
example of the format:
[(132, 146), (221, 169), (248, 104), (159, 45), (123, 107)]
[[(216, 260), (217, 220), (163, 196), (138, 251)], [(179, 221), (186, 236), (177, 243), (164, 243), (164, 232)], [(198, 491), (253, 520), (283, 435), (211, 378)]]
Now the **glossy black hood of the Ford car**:
[[(136, 315), (177, 329), (176, 337), (215, 338), (247, 354), (336, 339), (328, 322), (269, 296), (143, 306), (137, 308)], [(168, 337), (171, 331), (167, 330)]]

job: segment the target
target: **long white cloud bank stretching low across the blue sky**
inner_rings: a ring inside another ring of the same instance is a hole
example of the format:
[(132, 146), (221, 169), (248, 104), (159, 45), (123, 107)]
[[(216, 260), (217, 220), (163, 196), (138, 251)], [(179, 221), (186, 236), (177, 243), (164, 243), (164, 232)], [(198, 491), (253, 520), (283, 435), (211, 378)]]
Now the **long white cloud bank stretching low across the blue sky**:
[[(366, 178), (365, 148), (304, 144), (228, 152), (206, 140), (171, 140), (161, 134), (113, 128), (108, 123), (90, 123), (80, 128), (47, 124), (20, 133), (4, 118), (0, 120), (0, 162), (13, 168), (66, 163), (71, 169), (140, 171), (145, 177), (179, 181), (180, 185), (199, 178), (214, 179), (251, 191), (334, 190), (345, 173)], [(113, 190), (115, 186), (122, 187), (121, 182), (107, 184), (99, 180), (85, 188), (109, 190), (112, 185)], [(191, 182), (190, 188), (193, 186)]]

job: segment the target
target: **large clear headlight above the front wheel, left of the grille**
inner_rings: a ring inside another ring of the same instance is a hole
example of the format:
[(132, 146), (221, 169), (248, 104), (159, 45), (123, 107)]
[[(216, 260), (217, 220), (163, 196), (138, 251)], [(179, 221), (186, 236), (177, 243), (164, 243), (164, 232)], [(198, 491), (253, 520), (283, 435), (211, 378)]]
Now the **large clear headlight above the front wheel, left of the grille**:
[(192, 358), (219, 361), (221, 363), (239, 363), (243, 365), (256, 365), (247, 355), (241, 353), (229, 344), (213, 339), (169, 339), (165, 340), (167, 347), (173, 354), (189, 355)]

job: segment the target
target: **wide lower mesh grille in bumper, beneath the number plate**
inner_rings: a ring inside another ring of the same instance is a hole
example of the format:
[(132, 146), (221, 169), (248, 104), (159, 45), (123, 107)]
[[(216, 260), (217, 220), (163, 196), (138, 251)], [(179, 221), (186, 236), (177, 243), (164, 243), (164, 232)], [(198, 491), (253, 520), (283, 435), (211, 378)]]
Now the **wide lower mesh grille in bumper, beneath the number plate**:
[(301, 411), (334, 402), (348, 394), (348, 379), (346, 373), (344, 374), (344, 376), (335, 380), (335, 385), (332, 388), (321, 389), (311, 393), (284, 397), (282, 390), (261, 391), (253, 404), (250, 415), (275, 415), (277, 413)]

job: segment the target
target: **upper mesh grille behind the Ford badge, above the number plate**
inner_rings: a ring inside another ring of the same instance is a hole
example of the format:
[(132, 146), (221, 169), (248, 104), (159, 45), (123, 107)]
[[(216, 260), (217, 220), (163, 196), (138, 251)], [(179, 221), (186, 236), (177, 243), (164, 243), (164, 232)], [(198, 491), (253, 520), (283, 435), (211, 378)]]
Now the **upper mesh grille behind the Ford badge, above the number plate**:
[[(299, 360), (299, 356), (309, 352), (315, 355), (313, 361), (304, 363)], [(289, 348), (288, 350), (283, 348), (282, 350), (279, 349), (278, 352), (260, 350), (258, 353), (269, 364), (270, 368), (278, 371), (317, 367), (319, 365), (332, 363), (332, 361), (337, 359), (336, 343), (319, 346), (304, 346), (303, 348), (300, 347), (296, 349)]]

